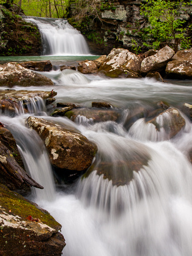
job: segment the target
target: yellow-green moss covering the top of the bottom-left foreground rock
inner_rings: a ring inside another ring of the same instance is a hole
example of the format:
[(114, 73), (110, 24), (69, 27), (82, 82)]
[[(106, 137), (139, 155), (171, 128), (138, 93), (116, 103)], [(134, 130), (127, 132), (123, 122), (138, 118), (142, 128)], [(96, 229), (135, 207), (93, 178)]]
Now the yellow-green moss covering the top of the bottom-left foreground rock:
[(60, 225), (48, 212), (42, 212), (36, 208), (35, 204), (30, 203), (18, 193), (10, 191), (2, 184), (0, 184), (0, 204), (7, 212), (11, 210), (11, 214), (18, 215), (22, 220), (26, 220), (31, 215), (33, 218), (39, 218), (51, 228)]

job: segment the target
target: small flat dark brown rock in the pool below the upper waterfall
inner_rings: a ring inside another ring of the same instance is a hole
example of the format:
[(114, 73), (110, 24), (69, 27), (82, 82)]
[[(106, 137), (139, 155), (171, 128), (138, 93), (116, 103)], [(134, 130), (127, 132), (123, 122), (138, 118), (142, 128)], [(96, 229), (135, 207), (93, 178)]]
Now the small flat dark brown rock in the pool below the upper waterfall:
[(24, 68), (28, 68), (34, 71), (51, 71), (53, 68), (50, 60), (25, 61), (20, 62), (19, 64)]

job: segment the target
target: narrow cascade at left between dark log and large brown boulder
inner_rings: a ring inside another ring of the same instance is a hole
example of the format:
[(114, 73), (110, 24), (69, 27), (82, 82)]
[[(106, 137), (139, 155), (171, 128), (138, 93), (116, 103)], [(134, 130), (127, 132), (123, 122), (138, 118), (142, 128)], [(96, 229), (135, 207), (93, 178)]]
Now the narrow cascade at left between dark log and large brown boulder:
[(44, 187), (44, 189), (32, 188), (36, 200), (54, 200), (56, 192), (52, 168), (44, 143), (39, 135), (25, 126), (23, 115), (14, 118), (2, 116), (1, 121), (14, 135), (26, 171), (32, 179)]

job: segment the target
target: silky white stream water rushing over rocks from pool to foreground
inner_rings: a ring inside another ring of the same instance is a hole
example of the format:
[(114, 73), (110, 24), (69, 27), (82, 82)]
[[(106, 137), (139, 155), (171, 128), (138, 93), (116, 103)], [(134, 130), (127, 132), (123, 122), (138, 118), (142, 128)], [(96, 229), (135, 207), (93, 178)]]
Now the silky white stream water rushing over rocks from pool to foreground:
[[(59, 48), (53, 54), (62, 54), (60, 51)], [(67, 57), (65, 61), (68, 61)], [(191, 104), (190, 82), (108, 79), (71, 70), (45, 72), (44, 75), (55, 83), (51, 88), (57, 92), (54, 104), (72, 102), (91, 107), (92, 101), (105, 101), (120, 109), (122, 114), (119, 122), (93, 123), (85, 117), (72, 122), (65, 117), (51, 117), (38, 98), (31, 101), (28, 114), (24, 114), (22, 106), (14, 118), (1, 114), (1, 122), (14, 134), (27, 171), (44, 186), (44, 191), (35, 189), (32, 200), (47, 209), (62, 225), (66, 240), (63, 254), (190, 256), (191, 122), (180, 111), (186, 125), (172, 139), (168, 139), (164, 131), (157, 132), (147, 125), (144, 118), (126, 127), (127, 115), (138, 108), (151, 110), (158, 101), (166, 101), (178, 109), (185, 102)], [(14, 89), (26, 88), (15, 86)], [(27, 89), (51, 90), (47, 86)], [(95, 170), (72, 185), (55, 185), (43, 143), (34, 131), (25, 126), (29, 115), (72, 126), (94, 141), (98, 146)], [(169, 117), (164, 118), (168, 122)], [(127, 171), (124, 163), (137, 159), (137, 156), (148, 158), (148, 162), (139, 172), (133, 172), (129, 184), (117, 186), (97, 174), (101, 161), (109, 164), (114, 175), (124, 174)]]

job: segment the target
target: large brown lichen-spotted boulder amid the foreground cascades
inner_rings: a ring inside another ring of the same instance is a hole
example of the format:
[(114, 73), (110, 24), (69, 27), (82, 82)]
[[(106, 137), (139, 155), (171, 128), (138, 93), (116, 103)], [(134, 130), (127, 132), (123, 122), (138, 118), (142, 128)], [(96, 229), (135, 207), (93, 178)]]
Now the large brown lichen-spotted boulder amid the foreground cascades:
[(29, 117), (27, 123), (43, 139), (53, 166), (78, 172), (91, 165), (97, 146), (78, 131), (65, 129), (42, 118)]

